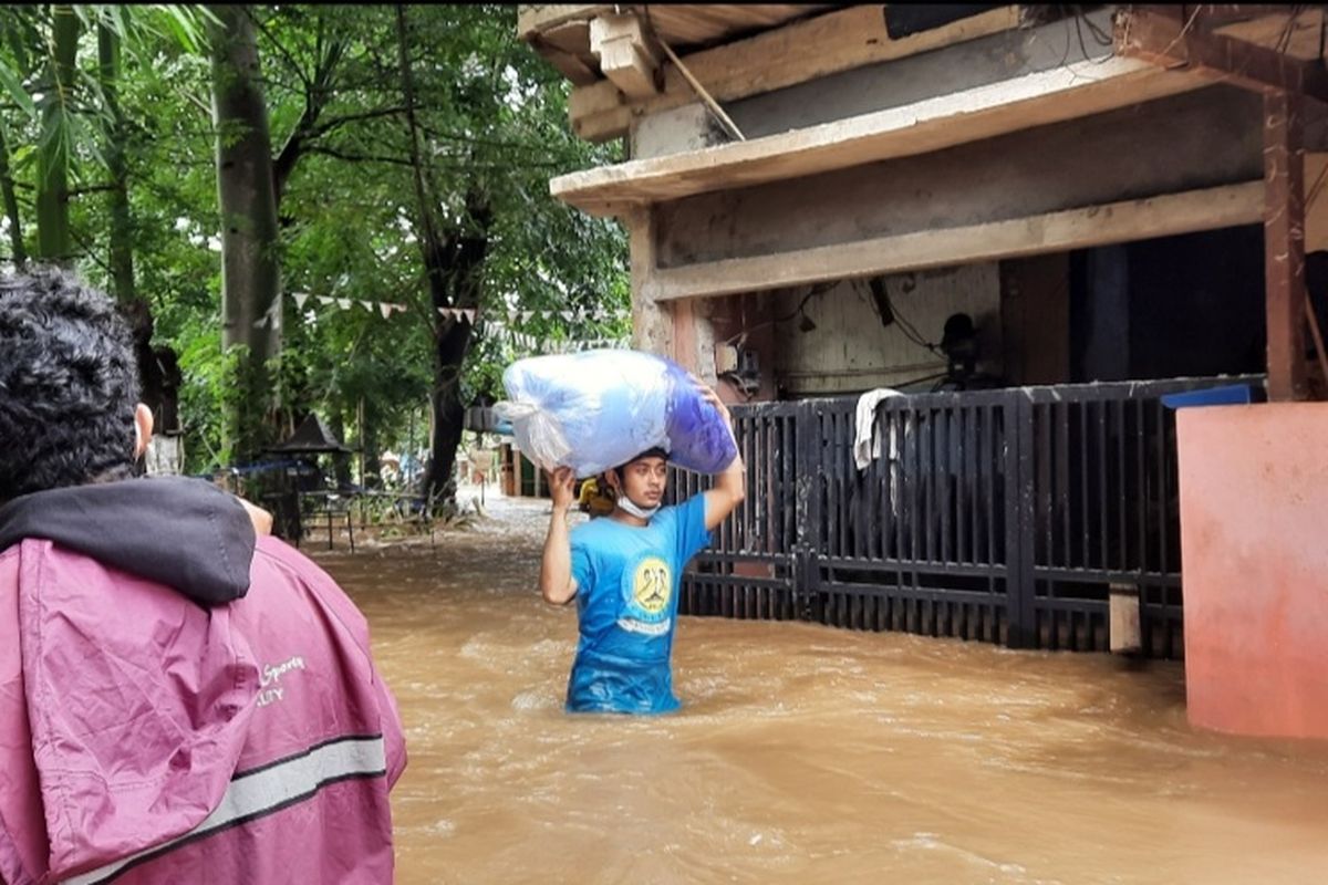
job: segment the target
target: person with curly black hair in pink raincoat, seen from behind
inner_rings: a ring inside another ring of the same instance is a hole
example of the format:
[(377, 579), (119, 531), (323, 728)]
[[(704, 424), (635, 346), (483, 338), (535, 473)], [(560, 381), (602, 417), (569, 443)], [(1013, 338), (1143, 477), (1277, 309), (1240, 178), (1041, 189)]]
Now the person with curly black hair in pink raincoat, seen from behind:
[(256, 508), (133, 475), (133, 348), (74, 276), (0, 276), (0, 882), (389, 882), (364, 617)]

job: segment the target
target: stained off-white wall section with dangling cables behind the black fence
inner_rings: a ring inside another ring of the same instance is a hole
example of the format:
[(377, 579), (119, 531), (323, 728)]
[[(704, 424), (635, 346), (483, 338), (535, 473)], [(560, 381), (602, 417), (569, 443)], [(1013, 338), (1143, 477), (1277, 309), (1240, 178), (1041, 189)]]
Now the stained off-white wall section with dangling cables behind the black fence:
[[(884, 277), (896, 313), (890, 325), (866, 281), (845, 281), (807, 300), (803, 312), (815, 328), (803, 332), (797, 314), (806, 289), (772, 293), (766, 320), (774, 324), (774, 377), (786, 395), (857, 393), (888, 387), (946, 370), (944, 357), (914, 344), (898, 317), (912, 324), (928, 342), (940, 341), (951, 313), (968, 313), (977, 326), (984, 358), (980, 372), (1001, 373), (1000, 275), (996, 264), (972, 264), (943, 271)], [(931, 382), (934, 383), (934, 382)]]

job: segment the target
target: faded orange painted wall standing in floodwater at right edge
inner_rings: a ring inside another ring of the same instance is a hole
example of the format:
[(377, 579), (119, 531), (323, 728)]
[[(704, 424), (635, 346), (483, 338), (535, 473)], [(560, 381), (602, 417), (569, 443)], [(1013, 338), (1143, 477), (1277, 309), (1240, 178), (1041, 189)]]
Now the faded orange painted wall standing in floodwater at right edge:
[(1328, 403), (1177, 413), (1190, 723), (1328, 738)]

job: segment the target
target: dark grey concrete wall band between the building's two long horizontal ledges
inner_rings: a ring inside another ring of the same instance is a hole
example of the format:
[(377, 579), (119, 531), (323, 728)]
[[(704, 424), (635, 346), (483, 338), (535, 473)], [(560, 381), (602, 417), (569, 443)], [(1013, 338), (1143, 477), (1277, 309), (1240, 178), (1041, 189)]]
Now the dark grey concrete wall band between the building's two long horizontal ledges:
[(920, 157), (659, 207), (671, 268), (1027, 218), (1263, 175), (1262, 103), (1227, 86)]

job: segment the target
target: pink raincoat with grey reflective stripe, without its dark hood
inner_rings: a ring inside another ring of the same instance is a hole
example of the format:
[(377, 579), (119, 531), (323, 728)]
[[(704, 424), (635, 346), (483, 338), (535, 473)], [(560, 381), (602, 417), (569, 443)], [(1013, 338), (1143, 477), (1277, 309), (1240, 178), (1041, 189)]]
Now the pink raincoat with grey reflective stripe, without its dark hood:
[(405, 750), (364, 617), (279, 540), (248, 579), (208, 608), (50, 540), (0, 553), (8, 885), (392, 881)]

